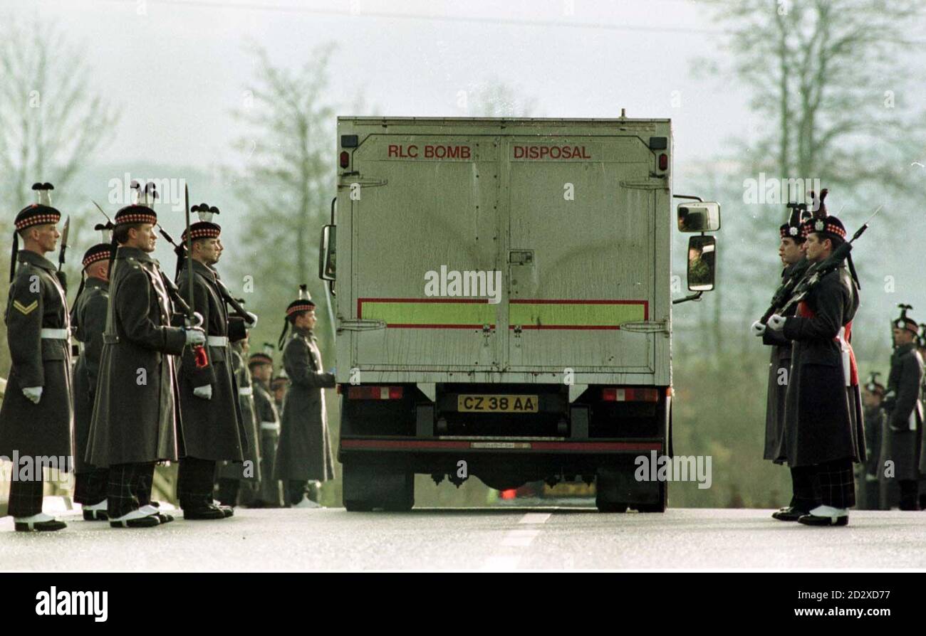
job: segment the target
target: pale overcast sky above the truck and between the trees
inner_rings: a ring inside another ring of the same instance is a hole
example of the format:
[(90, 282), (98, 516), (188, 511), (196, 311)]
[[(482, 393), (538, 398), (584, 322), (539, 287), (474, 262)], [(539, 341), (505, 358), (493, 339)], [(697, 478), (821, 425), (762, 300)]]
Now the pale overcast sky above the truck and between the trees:
[(94, 88), (122, 108), (106, 163), (227, 162), (248, 42), (293, 67), (335, 44), (332, 102), (360, 93), (382, 115), (466, 115), (458, 92), (497, 79), (536, 100), (535, 116), (672, 117), (677, 166), (750, 125), (741, 90), (693, 78), (718, 37), (694, 0), (0, 0), (0, 18), (13, 14), (86, 44)]

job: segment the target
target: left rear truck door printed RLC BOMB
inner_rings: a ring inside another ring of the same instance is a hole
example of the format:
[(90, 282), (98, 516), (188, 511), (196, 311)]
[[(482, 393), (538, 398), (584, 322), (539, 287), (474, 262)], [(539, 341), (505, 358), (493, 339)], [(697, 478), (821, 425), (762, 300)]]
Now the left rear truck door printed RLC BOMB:
[(355, 337), (352, 360), (380, 371), (497, 371), (504, 302), (445, 289), (428, 295), (425, 278), (502, 270), (497, 143), (374, 134), (354, 168), (351, 300), (358, 319), (386, 328)]

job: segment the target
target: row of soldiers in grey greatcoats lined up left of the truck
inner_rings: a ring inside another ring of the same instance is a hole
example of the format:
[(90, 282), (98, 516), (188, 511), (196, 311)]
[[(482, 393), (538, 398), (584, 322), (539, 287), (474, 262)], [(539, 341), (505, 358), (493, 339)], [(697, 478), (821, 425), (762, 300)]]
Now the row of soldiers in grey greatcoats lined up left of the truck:
[[(83, 254), (70, 311), (61, 271), (69, 223), (58, 232), (51, 184), (35, 184), (38, 201), (16, 216), (5, 313), (13, 364), (0, 456), (61, 458), (33, 471), (16, 467), (9, 497), (16, 530), (66, 527), (42, 511), (44, 467), (74, 471), (83, 519), (113, 528), (173, 520), (151, 499), (155, 466), (169, 461), (180, 464), (186, 520), (227, 519), (239, 495), (255, 508), (318, 507), (319, 483), (334, 474), (322, 396), (334, 376), (322, 369), (307, 287), (286, 309), (282, 374), (273, 376), (272, 345), (245, 364), (257, 315), (244, 311), (215, 269), (223, 251), (218, 208), (191, 209), (187, 196), (177, 245), (158, 223), (154, 184), (131, 187), (135, 202), (112, 219), (96, 206), (106, 224), (94, 228), (102, 240)], [(199, 215), (193, 224), (191, 212)], [(176, 282), (151, 257), (155, 230), (178, 255)], [(45, 255), (59, 239), (56, 266)], [(79, 351), (73, 377), (71, 336)], [(217, 464), (221, 503), (213, 499)]]

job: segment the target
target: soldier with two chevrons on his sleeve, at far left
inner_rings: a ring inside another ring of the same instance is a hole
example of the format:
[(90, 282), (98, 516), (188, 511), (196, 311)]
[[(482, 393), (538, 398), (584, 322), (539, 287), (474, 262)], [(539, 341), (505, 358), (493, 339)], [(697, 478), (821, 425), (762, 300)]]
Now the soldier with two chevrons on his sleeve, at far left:
[(71, 469), (73, 422), (68, 301), (55, 265), (44, 257), (61, 237), (56, 227), (61, 213), (52, 207), (51, 184), (36, 183), (32, 190), (39, 201), (19, 211), (13, 234), (4, 315), (13, 364), (0, 407), (0, 456), (31, 459), (31, 471), (14, 463), (9, 485), (7, 514), (19, 532), (66, 527), (42, 512), (39, 458), (62, 458), (66, 465), (49, 467)]

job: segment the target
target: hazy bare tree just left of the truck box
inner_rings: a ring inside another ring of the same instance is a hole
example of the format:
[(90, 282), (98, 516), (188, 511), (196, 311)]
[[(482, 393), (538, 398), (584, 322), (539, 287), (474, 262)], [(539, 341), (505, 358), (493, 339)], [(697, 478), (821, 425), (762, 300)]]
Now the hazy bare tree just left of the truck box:
[(261, 294), (289, 298), (297, 286), (318, 288), (315, 258), (334, 188), (334, 109), (327, 100), (331, 45), (316, 48), (297, 70), (275, 67), (255, 48), (257, 78), (233, 113), (244, 125), (234, 148), (244, 168), (234, 189), (247, 207), (254, 245), (249, 267)]

